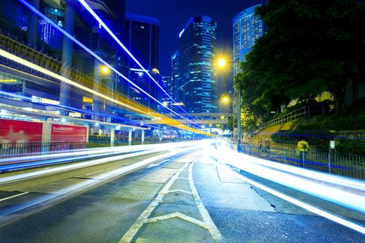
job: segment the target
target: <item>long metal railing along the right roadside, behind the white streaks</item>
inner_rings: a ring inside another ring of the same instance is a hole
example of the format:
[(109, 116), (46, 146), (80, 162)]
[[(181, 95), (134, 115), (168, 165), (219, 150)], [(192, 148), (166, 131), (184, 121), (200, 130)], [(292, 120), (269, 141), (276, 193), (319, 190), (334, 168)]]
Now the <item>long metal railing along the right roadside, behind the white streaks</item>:
[(296, 149), (262, 148), (241, 144), (240, 152), (267, 160), (295, 165), (328, 174), (365, 180), (365, 156), (316, 151), (302, 152)]

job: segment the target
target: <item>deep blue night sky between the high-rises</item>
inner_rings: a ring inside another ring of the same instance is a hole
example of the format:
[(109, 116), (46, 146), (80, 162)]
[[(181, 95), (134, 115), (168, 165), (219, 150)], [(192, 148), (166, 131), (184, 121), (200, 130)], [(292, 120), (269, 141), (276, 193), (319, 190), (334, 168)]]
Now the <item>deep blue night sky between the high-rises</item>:
[[(189, 17), (207, 15), (217, 22), (218, 51), (232, 60), (232, 18), (260, 0), (127, 0), (127, 12), (160, 20), (160, 57), (162, 75), (170, 75), (170, 60), (179, 48), (179, 33)], [(232, 69), (218, 74), (218, 94), (232, 90)]]

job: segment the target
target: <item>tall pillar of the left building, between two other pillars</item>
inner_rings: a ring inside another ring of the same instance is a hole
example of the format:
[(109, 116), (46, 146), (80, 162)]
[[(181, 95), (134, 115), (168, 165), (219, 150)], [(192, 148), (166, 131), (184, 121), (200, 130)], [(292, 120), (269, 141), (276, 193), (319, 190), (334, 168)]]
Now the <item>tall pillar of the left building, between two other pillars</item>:
[[(70, 35), (74, 35), (74, 7), (66, 1), (65, 6), (65, 24), (64, 29)], [(67, 77), (67, 72), (72, 65), (73, 42), (65, 35), (62, 43), (62, 75)], [(70, 86), (65, 83), (60, 83), (60, 104), (63, 106), (70, 106)], [(63, 115), (67, 112), (64, 111)]]

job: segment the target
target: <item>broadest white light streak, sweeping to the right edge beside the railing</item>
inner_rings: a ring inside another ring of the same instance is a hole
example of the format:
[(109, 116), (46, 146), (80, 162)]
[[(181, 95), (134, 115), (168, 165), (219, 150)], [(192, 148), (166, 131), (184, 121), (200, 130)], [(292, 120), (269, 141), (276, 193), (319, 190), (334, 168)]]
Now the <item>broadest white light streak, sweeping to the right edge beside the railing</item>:
[[(292, 174), (292, 168), (287, 169), (279, 163), (269, 163), (266, 160), (257, 161), (257, 158), (252, 158), (251, 156), (245, 156), (241, 153), (232, 151), (231, 149), (220, 149), (219, 151), (211, 149), (209, 154), (214, 158), (217, 158), (220, 162), (225, 162), (227, 165), (233, 165), (238, 169), (243, 169), (248, 171), (250, 174), (266, 178), (275, 183), (291, 187), (295, 190), (317, 196), (321, 199), (337, 203), (346, 208), (351, 208), (352, 210), (357, 210), (358, 212), (365, 213), (365, 192), (362, 190), (364, 188), (364, 183), (357, 182), (351, 179), (342, 178), (334, 176), (334, 181), (331, 181), (330, 175), (324, 175), (316, 172), (315, 177), (305, 177), (313, 176), (307, 170), (302, 168), (296, 168), (296, 174)], [(270, 167), (263, 165), (262, 162), (265, 161)], [(302, 173), (300, 173), (302, 171)], [(325, 181), (325, 183), (323, 183)], [(347, 183), (343, 183), (348, 181)], [(341, 185), (341, 186), (339, 186)], [(347, 185), (355, 185), (351, 187), (351, 190), (346, 187)], [(357, 192), (354, 190), (357, 189)]]

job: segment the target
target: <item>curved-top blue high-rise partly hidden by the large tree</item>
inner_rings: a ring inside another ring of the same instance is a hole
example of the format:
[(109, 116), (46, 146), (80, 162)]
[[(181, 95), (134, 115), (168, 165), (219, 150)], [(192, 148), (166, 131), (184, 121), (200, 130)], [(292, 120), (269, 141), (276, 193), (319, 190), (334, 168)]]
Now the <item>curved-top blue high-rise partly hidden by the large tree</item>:
[(238, 13), (233, 20), (233, 56), (234, 74), (239, 71), (240, 62), (245, 61), (245, 55), (252, 50), (255, 42), (263, 35), (263, 21), (255, 15), (257, 4)]

